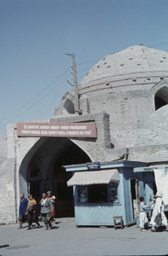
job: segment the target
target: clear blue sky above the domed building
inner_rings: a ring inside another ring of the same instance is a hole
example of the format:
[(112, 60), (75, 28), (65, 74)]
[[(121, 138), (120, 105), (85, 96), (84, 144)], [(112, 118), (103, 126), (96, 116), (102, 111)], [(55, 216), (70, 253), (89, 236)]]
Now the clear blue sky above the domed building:
[(168, 0), (0, 0), (0, 134), (49, 119), (105, 55), (132, 45), (168, 51)]

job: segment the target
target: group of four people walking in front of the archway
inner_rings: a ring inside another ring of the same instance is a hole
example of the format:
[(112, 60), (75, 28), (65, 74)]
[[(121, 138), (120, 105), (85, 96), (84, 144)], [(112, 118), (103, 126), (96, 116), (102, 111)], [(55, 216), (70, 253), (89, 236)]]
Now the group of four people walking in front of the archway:
[(32, 223), (36, 223), (37, 227), (40, 228), (41, 225), (38, 221), (38, 216), (41, 213), (42, 221), (45, 224), (45, 230), (52, 228), (52, 221), (55, 217), (55, 196), (51, 195), (51, 191), (42, 194), (42, 200), (40, 201), (41, 211), (38, 210), (36, 206), (36, 200), (32, 195), (29, 195), (29, 201), (25, 198), (23, 193), (20, 194), (20, 211), (19, 211), (19, 221), (20, 229), (22, 228), (23, 222), (28, 222), (28, 229), (31, 230)]

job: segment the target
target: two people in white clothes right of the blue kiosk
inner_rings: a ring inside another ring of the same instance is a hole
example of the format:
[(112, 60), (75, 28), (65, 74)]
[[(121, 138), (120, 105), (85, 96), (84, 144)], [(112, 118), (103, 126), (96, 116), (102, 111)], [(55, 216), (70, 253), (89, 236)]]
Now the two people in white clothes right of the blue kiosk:
[(149, 223), (152, 225), (151, 231), (156, 232), (160, 227), (165, 227), (165, 231), (168, 231), (168, 222), (164, 212), (165, 206), (160, 192), (154, 196), (154, 204), (150, 207), (145, 205), (143, 196), (140, 197), (139, 226), (141, 231), (146, 231), (145, 225), (148, 225), (148, 208), (153, 208), (152, 217)]

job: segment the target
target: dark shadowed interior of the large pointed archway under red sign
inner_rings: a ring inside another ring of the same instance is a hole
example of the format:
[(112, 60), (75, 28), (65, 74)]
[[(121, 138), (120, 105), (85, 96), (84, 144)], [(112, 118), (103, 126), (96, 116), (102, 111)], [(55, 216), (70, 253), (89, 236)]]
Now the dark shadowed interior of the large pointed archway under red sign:
[(63, 166), (91, 161), (90, 158), (66, 137), (41, 138), (34, 147), (20, 166), (20, 192), (32, 194), (40, 207), (42, 193), (51, 190), (56, 196), (56, 217), (74, 216), (73, 189), (67, 186), (72, 173), (65, 172)]

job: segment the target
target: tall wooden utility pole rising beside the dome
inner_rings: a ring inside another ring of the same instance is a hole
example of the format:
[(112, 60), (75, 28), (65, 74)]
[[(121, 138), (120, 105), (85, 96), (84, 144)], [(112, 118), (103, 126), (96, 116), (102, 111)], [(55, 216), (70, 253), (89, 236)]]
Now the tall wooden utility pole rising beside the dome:
[(78, 85), (77, 85), (77, 76), (76, 76), (76, 57), (75, 54), (66, 54), (72, 57), (72, 70), (74, 76), (74, 96), (75, 96), (75, 113), (79, 114), (79, 95), (78, 95)]

